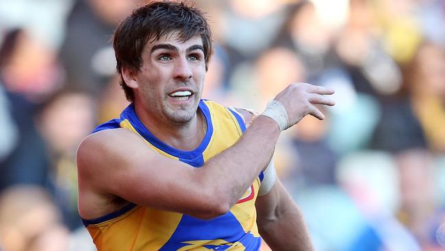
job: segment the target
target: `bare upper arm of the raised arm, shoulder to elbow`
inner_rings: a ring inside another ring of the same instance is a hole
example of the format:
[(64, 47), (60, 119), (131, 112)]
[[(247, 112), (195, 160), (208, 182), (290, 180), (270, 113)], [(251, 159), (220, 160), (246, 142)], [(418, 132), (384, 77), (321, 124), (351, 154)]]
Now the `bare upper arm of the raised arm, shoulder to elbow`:
[(194, 167), (157, 154), (133, 132), (97, 134), (77, 154), (79, 178), (94, 192), (181, 213), (202, 202)]

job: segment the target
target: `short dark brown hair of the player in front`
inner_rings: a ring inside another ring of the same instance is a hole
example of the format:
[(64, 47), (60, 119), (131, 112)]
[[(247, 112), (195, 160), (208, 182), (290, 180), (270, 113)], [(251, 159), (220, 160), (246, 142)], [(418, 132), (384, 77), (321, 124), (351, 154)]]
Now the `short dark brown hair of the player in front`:
[(116, 69), (120, 74), (120, 86), (129, 101), (133, 101), (133, 90), (125, 84), (122, 69), (140, 71), (142, 50), (150, 42), (162, 36), (178, 32), (181, 41), (200, 35), (203, 40), (205, 69), (213, 53), (212, 32), (203, 13), (185, 3), (162, 1), (138, 8), (120, 23), (114, 32), (113, 47), (116, 55)]

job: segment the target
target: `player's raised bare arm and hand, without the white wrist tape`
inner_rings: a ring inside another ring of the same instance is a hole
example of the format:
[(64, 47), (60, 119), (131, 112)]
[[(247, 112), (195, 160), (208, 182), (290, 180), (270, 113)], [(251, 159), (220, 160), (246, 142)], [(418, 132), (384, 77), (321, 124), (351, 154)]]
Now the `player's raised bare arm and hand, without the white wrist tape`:
[[(312, 104), (332, 105), (322, 96), (330, 93), (333, 91), (319, 86), (291, 85), (277, 99), (294, 124), (307, 114), (322, 119)], [(79, 213), (86, 219), (110, 213), (110, 209), (103, 209), (110, 204), (104, 198), (117, 196), (195, 217), (222, 215), (266, 166), (278, 136), (277, 123), (259, 116), (235, 145), (203, 167), (193, 168), (153, 152), (140, 136), (128, 130), (97, 132), (77, 151)]]

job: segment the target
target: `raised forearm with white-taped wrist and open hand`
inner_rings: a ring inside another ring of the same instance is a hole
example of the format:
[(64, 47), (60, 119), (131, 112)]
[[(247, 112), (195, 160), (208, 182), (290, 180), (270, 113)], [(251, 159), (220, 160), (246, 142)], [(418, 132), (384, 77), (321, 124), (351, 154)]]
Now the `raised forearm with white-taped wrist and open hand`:
[(334, 102), (324, 96), (332, 93), (333, 90), (322, 86), (290, 84), (266, 107), (263, 115), (255, 119), (238, 143), (205, 164), (199, 171), (203, 174), (199, 176), (201, 184), (213, 187), (212, 194), (218, 195), (223, 208), (228, 210), (270, 160), (280, 130), (298, 123), (308, 114), (324, 119), (325, 115), (315, 105), (332, 106)]

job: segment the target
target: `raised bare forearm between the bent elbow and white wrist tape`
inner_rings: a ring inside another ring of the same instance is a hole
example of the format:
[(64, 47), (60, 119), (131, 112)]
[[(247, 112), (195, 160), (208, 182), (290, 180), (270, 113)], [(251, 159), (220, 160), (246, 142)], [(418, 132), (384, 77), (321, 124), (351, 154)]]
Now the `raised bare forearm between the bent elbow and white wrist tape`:
[[(201, 178), (214, 187), (230, 208), (251, 186), (267, 165), (279, 136), (277, 123), (259, 116), (244, 132), (240, 141), (205, 163)], [(217, 177), (217, 178), (216, 178)]]

